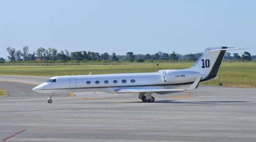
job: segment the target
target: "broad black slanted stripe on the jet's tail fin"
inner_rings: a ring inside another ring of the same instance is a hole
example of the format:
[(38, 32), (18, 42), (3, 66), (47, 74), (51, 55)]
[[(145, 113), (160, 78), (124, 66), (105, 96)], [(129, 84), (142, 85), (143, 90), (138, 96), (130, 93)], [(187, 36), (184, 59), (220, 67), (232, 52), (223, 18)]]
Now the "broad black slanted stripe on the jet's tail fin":
[[(222, 47), (222, 49), (227, 49), (227, 47)], [(209, 75), (206, 78), (202, 79), (201, 82), (210, 80), (210, 79), (215, 78), (217, 76), (217, 73), (220, 69), (221, 62), (222, 62), (222, 60), (225, 56), (225, 52), (226, 52), (226, 50), (221, 50), (220, 51), (220, 54), (219, 54), (215, 64), (213, 65), (211, 72), (209, 73)]]

